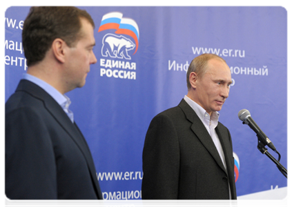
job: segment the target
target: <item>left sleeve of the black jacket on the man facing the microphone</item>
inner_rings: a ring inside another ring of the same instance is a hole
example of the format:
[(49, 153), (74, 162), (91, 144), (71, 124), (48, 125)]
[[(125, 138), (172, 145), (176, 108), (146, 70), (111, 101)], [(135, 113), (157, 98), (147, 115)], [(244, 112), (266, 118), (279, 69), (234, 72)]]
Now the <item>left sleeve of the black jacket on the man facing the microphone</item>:
[(143, 150), (144, 207), (177, 206), (179, 141), (170, 118), (157, 115), (146, 133)]

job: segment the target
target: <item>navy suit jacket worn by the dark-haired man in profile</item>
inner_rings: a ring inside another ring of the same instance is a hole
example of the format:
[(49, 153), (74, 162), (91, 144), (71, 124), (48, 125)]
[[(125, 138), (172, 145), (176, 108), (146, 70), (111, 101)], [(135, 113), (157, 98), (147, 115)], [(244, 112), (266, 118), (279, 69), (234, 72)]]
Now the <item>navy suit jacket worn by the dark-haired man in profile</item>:
[(4, 106), (3, 172), (4, 206), (104, 206), (79, 128), (27, 80)]

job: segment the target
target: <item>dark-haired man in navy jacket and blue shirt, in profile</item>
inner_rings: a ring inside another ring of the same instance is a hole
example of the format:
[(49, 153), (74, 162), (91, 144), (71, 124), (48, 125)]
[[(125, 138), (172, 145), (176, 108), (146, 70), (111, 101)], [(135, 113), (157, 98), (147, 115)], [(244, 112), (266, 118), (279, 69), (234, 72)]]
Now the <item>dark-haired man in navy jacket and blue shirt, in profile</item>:
[(104, 206), (64, 95), (84, 86), (97, 62), (94, 27), (73, 6), (30, 9), (22, 33), (27, 74), (4, 105), (4, 206)]

